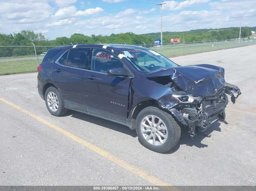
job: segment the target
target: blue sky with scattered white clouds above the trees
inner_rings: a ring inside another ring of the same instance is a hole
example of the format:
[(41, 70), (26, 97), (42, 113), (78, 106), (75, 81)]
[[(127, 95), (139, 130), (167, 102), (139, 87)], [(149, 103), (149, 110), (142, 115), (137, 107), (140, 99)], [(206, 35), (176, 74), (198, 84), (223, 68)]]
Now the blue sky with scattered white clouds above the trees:
[[(0, 32), (42, 32), (49, 40), (85, 35), (160, 31), (157, 0), (0, 1)], [(163, 1), (163, 31), (256, 26), (255, 0)]]

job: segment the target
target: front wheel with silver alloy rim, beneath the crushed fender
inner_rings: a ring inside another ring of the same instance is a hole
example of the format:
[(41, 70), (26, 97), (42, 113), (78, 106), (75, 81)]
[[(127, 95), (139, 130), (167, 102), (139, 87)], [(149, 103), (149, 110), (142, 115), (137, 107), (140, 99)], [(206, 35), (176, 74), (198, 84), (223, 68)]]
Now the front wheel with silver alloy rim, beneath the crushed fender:
[(146, 148), (164, 153), (177, 145), (181, 128), (173, 117), (157, 107), (146, 107), (136, 118), (139, 142)]

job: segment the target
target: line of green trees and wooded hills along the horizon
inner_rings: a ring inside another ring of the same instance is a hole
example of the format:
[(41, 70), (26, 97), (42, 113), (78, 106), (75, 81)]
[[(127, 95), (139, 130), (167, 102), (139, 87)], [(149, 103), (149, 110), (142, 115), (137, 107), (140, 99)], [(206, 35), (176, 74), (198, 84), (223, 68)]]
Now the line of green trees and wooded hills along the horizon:
[[(183, 32), (163, 32), (163, 43), (170, 43), (171, 38), (180, 38), (181, 42), (192, 42), (201, 40), (221, 40), (236, 39), (239, 37), (239, 27), (219, 28), (219, 29), (197, 29)], [(242, 27), (241, 37), (248, 37), (251, 31), (256, 27)], [(154, 39), (160, 39), (160, 32), (135, 34), (132, 32), (111, 35), (94, 35), (87, 36), (75, 33), (68, 37), (57, 37), (55, 40), (48, 40), (42, 33), (35, 33), (30, 30), (22, 30), (19, 33), (4, 34), (0, 33), (0, 45), (32, 45), (53, 46), (53, 45), (71, 45), (89, 44), (89, 43), (115, 43), (115, 44), (153, 44)], [(32, 42), (32, 43), (31, 43)]]

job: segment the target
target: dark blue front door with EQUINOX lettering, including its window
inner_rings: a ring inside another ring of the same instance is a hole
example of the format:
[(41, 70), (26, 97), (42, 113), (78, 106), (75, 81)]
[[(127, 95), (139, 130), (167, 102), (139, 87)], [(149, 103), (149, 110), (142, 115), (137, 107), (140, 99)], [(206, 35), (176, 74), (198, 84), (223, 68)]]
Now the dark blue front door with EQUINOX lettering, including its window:
[[(122, 122), (127, 119), (128, 96), (131, 78), (109, 76), (109, 68), (124, 68), (124, 63), (106, 49), (91, 51), (89, 71), (86, 72), (86, 105), (90, 114), (114, 118)], [(113, 120), (113, 121), (115, 121)]]

